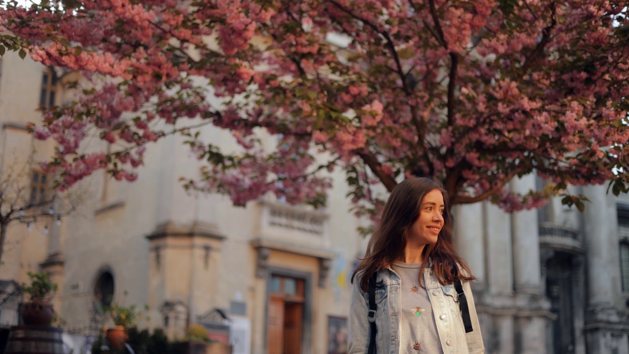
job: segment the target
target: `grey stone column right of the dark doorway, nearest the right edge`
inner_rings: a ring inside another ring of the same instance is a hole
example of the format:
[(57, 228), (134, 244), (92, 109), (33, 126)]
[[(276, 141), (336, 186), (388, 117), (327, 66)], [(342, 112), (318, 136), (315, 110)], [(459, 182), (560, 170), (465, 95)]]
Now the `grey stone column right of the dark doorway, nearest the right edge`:
[[(620, 255), (616, 203), (606, 185), (584, 187), (590, 200), (583, 213), (587, 259), (587, 353), (626, 353), (626, 321), (619, 316)], [(620, 344), (623, 343), (623, 344)]]

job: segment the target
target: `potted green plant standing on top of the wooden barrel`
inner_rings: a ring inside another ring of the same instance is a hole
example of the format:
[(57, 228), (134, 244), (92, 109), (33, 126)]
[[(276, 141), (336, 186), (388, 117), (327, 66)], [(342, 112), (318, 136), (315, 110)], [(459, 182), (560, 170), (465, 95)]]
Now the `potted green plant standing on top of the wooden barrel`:
[(27, 326), (50, 326), (55, 311), (50, 299), (57, 291), (57, 284), (50, 281), (48, 273), (28, 272), (30, 285), (22, 284), (22, 292), (28, 294), (29, 302), (22, 305), (22, 321)]

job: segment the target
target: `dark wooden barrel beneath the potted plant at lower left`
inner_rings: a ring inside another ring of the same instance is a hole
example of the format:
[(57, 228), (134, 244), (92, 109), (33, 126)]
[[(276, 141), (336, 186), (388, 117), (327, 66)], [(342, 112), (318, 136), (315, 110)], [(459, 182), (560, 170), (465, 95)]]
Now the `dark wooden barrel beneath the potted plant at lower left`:
[(57, 327), (12, 327), (4, 354), (64, 354), (61, 334)]

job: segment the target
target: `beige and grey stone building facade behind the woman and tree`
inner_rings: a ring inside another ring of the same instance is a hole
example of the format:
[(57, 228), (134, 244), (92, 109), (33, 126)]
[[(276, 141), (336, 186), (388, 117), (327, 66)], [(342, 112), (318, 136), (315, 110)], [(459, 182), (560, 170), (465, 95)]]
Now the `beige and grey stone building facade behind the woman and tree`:
[[(39, 104), (70, 95), (64, 79), (72, 73), (63, 74), (4, 55), (3, 166), (26, 164), (33, 151), (35, 162), (50, 156), (52, 144), (34, 141), (25, 127), (40, 119)], [(235, 149), (228, 132), (203, 135)], [(37, 166), (26, 166), (28, 178), (42, 173)], [(14, 288), (27, 271), (50, 272), (67, 331), (91, 328), (113, 301), (148, 305), (150, 319), (140, 325), (170, 338), (198, 322), (219, 339), (226, 329), (234, 353), (333, 350), (344, 339), (349, 277), (366, 243), (348, 212), (343, 174), (331, 174), (321, 210), (269, 196), (236, 208), (226, 197), (184, 191), (179, 178), (198, 168), (182, 139), (169, 137), (148, 149), (134, 183), (94, 174), (77, 185), (84, 198), (74, 214), (10, 226), (0, 283)], [(511, 188), (542, 185), (527, 176)], [(513, 215), (489, 203), (454, 208), (457, 248), (479, 279), (473, 288), (487, 353), (629, 354), (629, 198), (604, 186), (580, 191), (591, 200), (583, 214), (558, 200)]]

